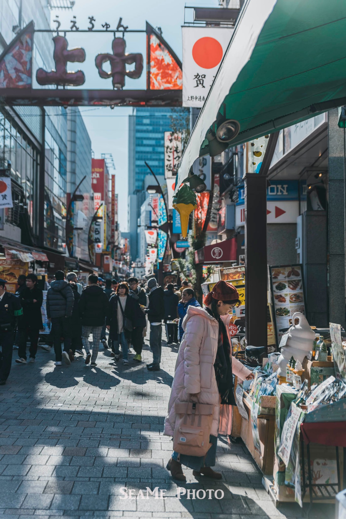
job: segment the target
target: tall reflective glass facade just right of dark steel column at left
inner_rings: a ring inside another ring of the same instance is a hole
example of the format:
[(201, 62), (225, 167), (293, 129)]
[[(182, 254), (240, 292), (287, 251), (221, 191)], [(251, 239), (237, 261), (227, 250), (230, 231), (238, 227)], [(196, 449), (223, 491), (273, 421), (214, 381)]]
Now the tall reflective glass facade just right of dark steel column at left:
[(47, 129), (45, 155), (45, 244), (64, 252), (66, 157)]

